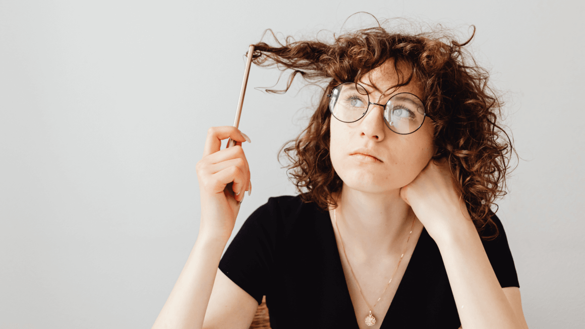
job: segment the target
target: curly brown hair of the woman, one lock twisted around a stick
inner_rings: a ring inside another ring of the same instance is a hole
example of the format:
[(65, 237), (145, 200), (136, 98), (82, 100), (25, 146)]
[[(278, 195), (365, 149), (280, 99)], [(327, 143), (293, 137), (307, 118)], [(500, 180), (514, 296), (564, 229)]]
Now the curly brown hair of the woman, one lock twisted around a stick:
[[(480, 236), (485, 240), (498, 236), (491, 207), (497, 211), (495, 200), (506, 194), (505, 179), (515, 153), (500, 123), (503, 102), (488, 85), (488, 71), (464, 49), (475, 35), (475, 26), (463, 43), (444, 29), (438, 30), (393, 32), (378, 23), (334, 35), (331, 43), (295, 41), (292, 37), (283, 43), (269, 29), (277, 46), (265, 42), (255, 45), (255, 64), (292, 70), (284, 90), (268, 92), (286, 92), (297, 74), (314, 84), (326, 84), (308, 127), (281, 149), (291, 162), (287, 166), (290, 179), (305, 202), (315, 202), (324, 210), (329, 205), (335, 207), (332, 194), (342, 188), (329, 157), (331, 113), (326, 95), (343, 82), (358, 82), (392, 58), (399, 79), (396, 88), (412, 79), (421, 82), (426, 112), (435, 124), (437, 152), (433, 159), (445, 157), (448, 161)], [(410, 72), (400, 71), (400, 64), (407, 64)]]

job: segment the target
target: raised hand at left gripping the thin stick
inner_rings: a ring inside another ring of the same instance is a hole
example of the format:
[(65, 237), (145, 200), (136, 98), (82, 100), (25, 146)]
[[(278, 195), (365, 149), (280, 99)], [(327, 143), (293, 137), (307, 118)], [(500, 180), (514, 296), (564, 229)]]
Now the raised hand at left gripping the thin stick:
[[(236, 146), (220, 150), (226, 138), (236, 141)], [(246, 191), (252, 192), (244, 141), (250, 142), (250, 138), (232, 126), (211, 127), (207, 132), (203, 158), (196, 167), (201, 193), (200, 235), (223, 238), (226, 243), (232, 235), (240, 202)]]

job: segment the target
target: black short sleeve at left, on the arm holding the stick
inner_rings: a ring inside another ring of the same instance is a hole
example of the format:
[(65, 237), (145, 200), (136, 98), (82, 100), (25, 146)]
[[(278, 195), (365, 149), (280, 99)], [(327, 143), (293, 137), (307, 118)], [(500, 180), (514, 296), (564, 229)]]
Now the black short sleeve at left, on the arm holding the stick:
[(242, 228), (219, 261), (219, 269), (258, 304), (269, 288), (274, 264), (277, 220), (280, 213), (274, 198), (260, 206)]

